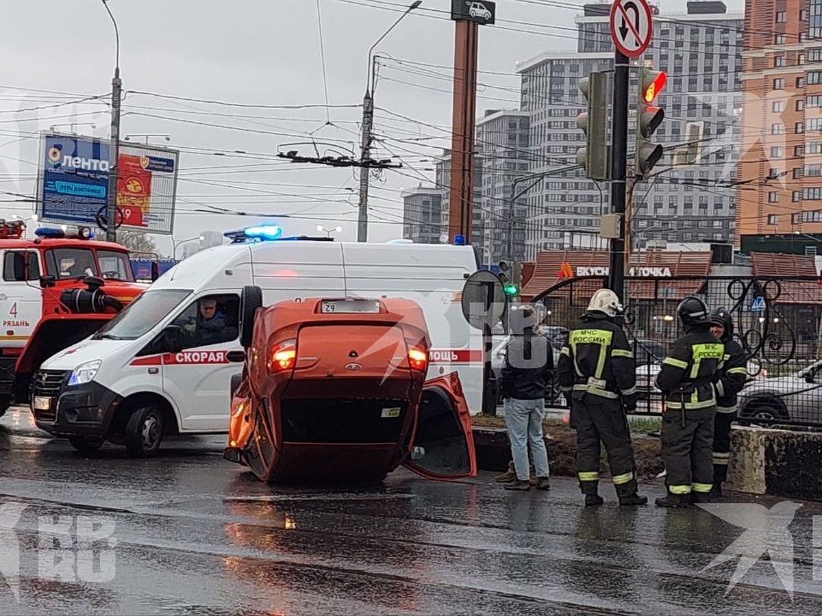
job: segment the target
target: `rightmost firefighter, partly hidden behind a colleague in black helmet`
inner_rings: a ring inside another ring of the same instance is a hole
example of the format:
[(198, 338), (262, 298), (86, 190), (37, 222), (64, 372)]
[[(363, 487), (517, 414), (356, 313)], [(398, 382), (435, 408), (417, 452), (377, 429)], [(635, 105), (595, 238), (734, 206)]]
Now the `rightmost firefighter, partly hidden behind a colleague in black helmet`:
[(733, 339), (733, 319), (724, 308), (713, 310), (711, 333), (725, 345), (719, 370), (713, 377), (717, 398), (717, 414), (713, 421), (713, 489), (711, 496), (722, 496), (722, 484), (727, 479), (731, 459), (731, 424), (737, 418), (737, 393), (748, 380), (747, 360), (739, 343)]

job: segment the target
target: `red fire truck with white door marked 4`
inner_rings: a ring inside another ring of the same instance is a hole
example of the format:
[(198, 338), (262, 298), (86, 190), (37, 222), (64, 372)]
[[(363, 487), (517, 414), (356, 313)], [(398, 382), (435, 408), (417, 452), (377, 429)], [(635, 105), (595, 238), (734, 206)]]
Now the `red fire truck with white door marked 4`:
[(29, 397), (49, 356), (94, 333), (145, 289), (128, 249), (94, 241), (90, 228), (39, 228), (0, 220), (0, 416)]

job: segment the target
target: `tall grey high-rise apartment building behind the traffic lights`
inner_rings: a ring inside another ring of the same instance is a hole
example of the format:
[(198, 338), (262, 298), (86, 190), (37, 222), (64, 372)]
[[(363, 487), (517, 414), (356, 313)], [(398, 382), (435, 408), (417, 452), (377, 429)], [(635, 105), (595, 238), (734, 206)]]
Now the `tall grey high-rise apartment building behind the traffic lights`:
[[(784, 2), (784, 0), (780, 0)], [(648, 241), (727, 241), (736, 225), (737, 159), (741, 139), (741, 13), (723, 2), (682, 2), (687, 12), (653, 17), (653, 42), (634, 63), (667, 71), (658, 103), (666, 117), (656, 136), (666, 145), (654, 168), (663, 171), (637, 184), (631, 238)], [(584, 145), (576, 117), (585, 110), (579, 80), (591, 71), (609, 71), (613, 42), (605, 3), (588, 4), (576, 18), (576, 53), (543, 53), (521, 63), (521, 110), (531, 117), (531, 172), (546, 173), (526, 202), (526, 258), (538, 251), (593, 246), (598, 220), (609, 208), (607, 182), (589, 181), (569, 171)], [(663, 7), (665, 8), (665, 7)], [(631, 76), (635, 105), (636, 71)], [(610, 97), (609, 97), (610, 98)], [(631, 113), (629, 133), (633, 134)], [(693, 150), (675, 145), (700, 145)], [(632, 140), (629, 155), (633, 153)], [(630, 161), (629, 161), (630, 172)]]

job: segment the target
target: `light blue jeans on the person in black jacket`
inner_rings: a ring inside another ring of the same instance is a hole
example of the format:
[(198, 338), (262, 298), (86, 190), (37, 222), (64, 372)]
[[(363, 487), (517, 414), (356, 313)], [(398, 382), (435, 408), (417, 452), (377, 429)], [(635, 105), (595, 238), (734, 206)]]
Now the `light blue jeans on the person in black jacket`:
[(505, 399), (506, 428), (511, 444), (511, 457), (517, 479), (527, 481), (531, 477), (528, 463), (528, 445), (531, 444), (533, 468), (538, 477), (548, 476), (548, 453), (543, 437), (545, 401)]

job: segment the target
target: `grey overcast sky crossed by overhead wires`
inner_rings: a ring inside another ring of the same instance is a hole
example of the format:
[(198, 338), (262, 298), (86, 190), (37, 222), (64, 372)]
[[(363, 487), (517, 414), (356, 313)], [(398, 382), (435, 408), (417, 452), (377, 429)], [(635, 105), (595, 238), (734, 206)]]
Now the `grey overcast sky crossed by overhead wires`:
[[(568, 7), (572, 3), (584, 2), (497, 0), (497, 25), (483, 27), (479, 39), (479, 70), (490, 73), (479, 76), (478, 116), (489, 108), (517, 107), (515, 62), (575, 48), (574, 17), (581, 11)], [(685, 12), (684, 0), (657, 3), (663, 14)], [(744, 2), (727, 4), (729, 11), (742, 11)], [(313, 154), (309, 132), (321, 154), (358, 154), (367, 51), (405, 6), (402, 0), (319, 0), (332, 106), (326, 110), (317, 0), (109, 0), (120, 30), (124, 90), (249, 105), (127, 94), (122, 135), (168, 134), (169, 142), (162, 137), (151, 142), (181, 149), (176, 239), (261, 220), (279, 223), (289, 234), (339, 224), (344, 230), (337, 237), (356, 238), (355, 173), (289, 163), (275, 154), (289, 149)], [(432, 177), (427, 171), (432, 157), (449, 145), (454, 56), (449, 10), (450, 0), (424, 0), (377, 48), (394, 60), (386, 59), (379, 71), (375, 132), (391, 140), (380, 144), (376, 155), (400, 157), (404, 168), (382, 172), (372, 182), (372, 241), (402, 236), (400, 190)], [(100, 0), (5, 2), (3, 26), (0, 190), (33, 195), (36, 131), (56, 126), (68, 132), (74, 122), (77, 133), (109, 135), (113, 27)], [(104, 98), (64, 104), (87, 95)], [(23, 111), (32, 108), (38, 109)], [(250, 154), (213, 154), (238, 149)], [(9, 199), (0, 198), (0, 213), (26, 214), (29, 205)], [(194, 211), (204, 203), (299, 218)], [(168, 237), (155, 241), (170, 254)]]

